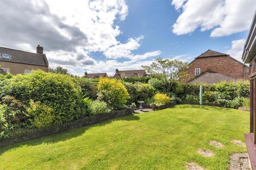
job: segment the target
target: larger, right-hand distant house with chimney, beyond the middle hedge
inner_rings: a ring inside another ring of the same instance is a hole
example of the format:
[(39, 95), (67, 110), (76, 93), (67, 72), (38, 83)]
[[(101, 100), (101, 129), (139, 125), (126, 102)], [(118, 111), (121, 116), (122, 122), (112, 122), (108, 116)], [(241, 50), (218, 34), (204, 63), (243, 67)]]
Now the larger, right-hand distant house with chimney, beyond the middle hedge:
[(127, 78), (127, 77), (146, 77), (145, 70), (124, 70), (119, 71), (116, 69), (116, 73), (114, 74), (113, 78)]

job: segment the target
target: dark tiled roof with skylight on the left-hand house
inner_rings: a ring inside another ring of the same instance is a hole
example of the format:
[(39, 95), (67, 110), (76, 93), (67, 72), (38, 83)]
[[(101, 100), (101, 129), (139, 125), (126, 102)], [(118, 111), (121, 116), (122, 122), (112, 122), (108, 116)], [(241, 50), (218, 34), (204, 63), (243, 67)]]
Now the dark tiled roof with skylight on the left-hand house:
[[(2, 58), (2, 54), (8, 54), (10, 58)], [(24, 52), (5, 47), (0, 47), (0, 61), (48, 66), (45, 54)]]

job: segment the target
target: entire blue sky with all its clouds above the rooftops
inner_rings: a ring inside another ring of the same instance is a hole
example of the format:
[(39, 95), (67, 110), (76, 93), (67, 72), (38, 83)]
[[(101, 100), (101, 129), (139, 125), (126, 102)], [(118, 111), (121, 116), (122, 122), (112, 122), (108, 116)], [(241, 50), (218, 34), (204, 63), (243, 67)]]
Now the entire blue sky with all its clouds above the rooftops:
[(135, 70), (157, 57), (191, 62), (207, 49), (241, 61), (255, 0), (0, 0), (0, 46), (36, 52), (49, 67)]

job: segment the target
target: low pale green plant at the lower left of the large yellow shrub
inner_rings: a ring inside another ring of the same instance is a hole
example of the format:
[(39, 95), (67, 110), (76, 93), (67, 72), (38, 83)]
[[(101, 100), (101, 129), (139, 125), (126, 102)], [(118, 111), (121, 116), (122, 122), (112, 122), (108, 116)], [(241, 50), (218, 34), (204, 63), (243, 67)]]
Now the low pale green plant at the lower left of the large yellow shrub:
[(89, 105), (90, 115), (102, 115), (110, 112), (109, 107), (103, 101), (95, 100)]

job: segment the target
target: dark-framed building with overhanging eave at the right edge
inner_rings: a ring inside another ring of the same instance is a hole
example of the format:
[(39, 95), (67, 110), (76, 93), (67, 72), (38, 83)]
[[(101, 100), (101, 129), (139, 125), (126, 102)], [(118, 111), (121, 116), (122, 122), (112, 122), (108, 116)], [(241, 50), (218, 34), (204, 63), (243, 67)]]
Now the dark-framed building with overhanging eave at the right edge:
[(251, 167), (256, 170), (256, 12), (253, 16), (249, 35), (245, 41), (242, 60), (245, 63), (250, 63), (250, 133), (245, 134), (245, 141)]

